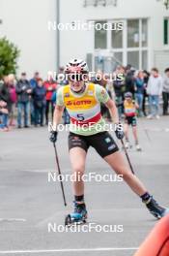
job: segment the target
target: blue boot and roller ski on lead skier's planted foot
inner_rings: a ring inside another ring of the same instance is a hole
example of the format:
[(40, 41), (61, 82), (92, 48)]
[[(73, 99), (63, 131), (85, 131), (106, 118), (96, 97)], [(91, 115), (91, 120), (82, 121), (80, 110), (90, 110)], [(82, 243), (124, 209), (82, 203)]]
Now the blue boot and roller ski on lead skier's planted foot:
[(85, 204), (74, 202), (74, 211), (66, 216), (65, 226), (70, 226), (72, 224), (83, 224), (86, 223), (86, 219), (87, 210)]

